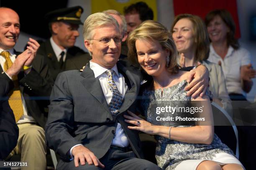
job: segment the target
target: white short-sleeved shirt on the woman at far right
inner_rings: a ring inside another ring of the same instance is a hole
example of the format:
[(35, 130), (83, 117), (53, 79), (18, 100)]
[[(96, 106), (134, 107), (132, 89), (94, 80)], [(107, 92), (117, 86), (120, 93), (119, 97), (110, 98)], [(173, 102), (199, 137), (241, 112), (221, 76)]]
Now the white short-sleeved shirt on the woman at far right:
[(217, 64), (219, 61), (221, 62), (229, 94), (236, 93), (246, 96), (241, 84), (241, 66), (251, 63), (250, 53), (246, 49), (238, 48), (238, 50), (235, 50), (233, 47), (229, 46), (228, 53), (223, 60), (215, 52), (211, 44), (208, 60)]

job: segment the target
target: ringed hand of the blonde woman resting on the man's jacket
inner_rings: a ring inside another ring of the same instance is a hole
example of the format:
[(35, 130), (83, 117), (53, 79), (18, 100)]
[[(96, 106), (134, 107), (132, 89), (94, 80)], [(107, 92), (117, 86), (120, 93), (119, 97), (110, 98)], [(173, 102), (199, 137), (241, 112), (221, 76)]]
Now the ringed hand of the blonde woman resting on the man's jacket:
[(140, 130), (141, 132), (144, 132), (147, 134), (156, 134), (156, 129), (157, 129), (156, 127), (158, 126), (155, 126), (147, 122), (146, 120), (141, 119), (140, 117), (130, 112), (129, 110), (127, 112), (131, 116), (124, 114), (123, 117), (125, 117), (125, 122), (135, 125), (135, 126), (128, 126), (129, 129)]

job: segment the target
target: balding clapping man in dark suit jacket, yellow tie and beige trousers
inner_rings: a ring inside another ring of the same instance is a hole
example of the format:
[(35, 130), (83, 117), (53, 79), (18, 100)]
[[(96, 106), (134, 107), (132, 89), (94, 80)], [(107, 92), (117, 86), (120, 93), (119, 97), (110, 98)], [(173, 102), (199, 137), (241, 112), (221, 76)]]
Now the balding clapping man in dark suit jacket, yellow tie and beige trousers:
[[(0, 8), (0, 78), (8, 81), (8, 102), (19, 127), (18, 144), (8, 156), (21, 154), (28, 162), (26, 169), (46, 169), (44, 125), (53, 80), (43, 56), (37, 55), (39, 44), (29, 38), (27, 50), (16, 52), (20, 33), (18, 14), (10, 8)], [(36, 56), (36, 57), (35, 57)], [(7, 158), (7, 159), (8, 159)]]

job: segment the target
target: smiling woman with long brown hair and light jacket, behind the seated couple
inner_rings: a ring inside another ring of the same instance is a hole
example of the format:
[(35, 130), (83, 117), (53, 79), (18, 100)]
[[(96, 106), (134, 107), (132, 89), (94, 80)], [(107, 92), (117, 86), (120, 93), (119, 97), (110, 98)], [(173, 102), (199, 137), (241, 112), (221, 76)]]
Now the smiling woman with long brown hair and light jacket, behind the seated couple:
[(196, 66), (197, 62), (204, 64), (210, 73), (209, 89), (212, 92), (212, 100), (232, 116), (223, 71), (217, 64), (206, 61), (210, 42), (201, 18), (190, 14), (178, 15), (174, 19), (171, 31), (177, 50), (181, 54), (179, 65), (188, 67)]

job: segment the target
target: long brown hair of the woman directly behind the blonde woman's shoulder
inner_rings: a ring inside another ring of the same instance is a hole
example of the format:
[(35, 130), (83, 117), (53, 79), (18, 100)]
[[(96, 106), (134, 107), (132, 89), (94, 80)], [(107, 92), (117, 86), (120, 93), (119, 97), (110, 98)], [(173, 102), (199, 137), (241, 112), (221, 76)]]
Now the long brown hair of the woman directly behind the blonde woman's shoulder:
[(193, 23), (193, 33), (195, 37), (195, 60), (202, 61), (206, 60), (209, 57), (210, 51), (210, 41), (208, 38), (208, 33), (202, 19), (197, 15), (191, 14), (180, 14), (174, 18), (174, 22), (172, 23), (171, 32), (175, 24), (181, 19), (188, 19)]

